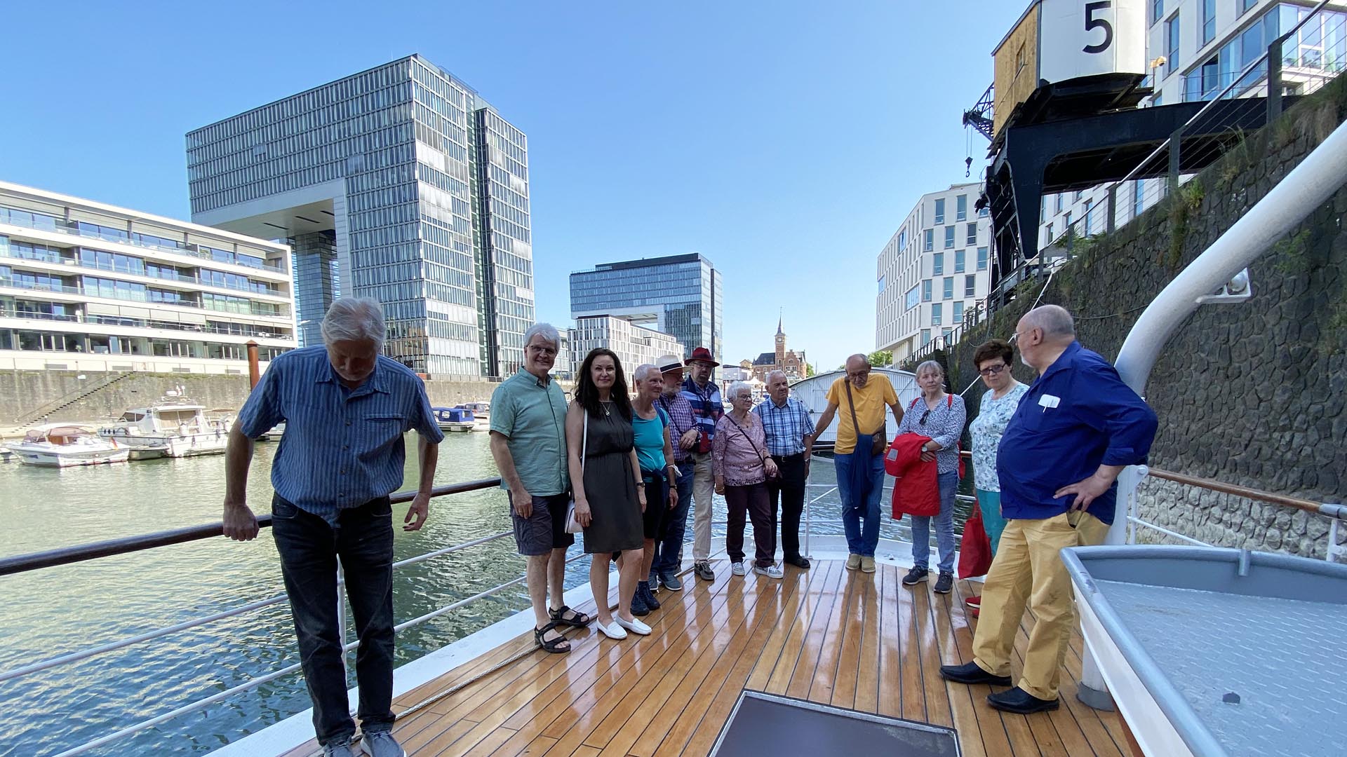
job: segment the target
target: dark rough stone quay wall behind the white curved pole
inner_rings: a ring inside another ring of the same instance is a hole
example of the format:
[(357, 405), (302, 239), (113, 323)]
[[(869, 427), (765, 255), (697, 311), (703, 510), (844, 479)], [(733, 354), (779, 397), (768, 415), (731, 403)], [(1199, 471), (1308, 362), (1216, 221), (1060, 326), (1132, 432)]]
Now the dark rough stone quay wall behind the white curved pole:
[[(1086, 240), (1043, 303), (1071, 310), (1080, 342), (1117, 358), (1164, 286), (1344, 120), (1340, 77), (1141, 218)], [(1203, 306), (1165, 345), (1146, 387), (1160, 416), (1152, 466), (1320, 502), (1347, 494), (1347, 189), (1304, 210), (1308, 217), (1250, 267), (1250, 302)], [(1041, 288), (1022, 286), (951, 350), (956, 389), (977, 378), (977, 345), (1009, 338)], [(1033, 378), (1022, 365), (1016, 376)], [(968, 392), (970, 414), (981, 392)], [(1142, 517), (1203, 541), (1313, 556), (1327, 548), (1320, 516), (1165, 481), (1142, 492)]]

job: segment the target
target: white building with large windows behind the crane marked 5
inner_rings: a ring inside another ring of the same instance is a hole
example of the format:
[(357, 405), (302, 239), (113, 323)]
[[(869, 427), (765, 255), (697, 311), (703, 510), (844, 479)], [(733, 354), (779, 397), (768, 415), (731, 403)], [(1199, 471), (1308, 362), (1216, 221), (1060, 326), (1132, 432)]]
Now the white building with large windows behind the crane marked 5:
[[(1148, 105), (1214, 100), (1237, 84), (1266, 89), (1266, 63), (1254, 66), (1278, 36), (1307, 19), (1316, 3), (1277, 0), (1145, 0), (1146, 61), (1154, 94)], [(1254, 66), (1253, 71), (1243, 74)], [(1282, 92), (1308, 94), (1347, 66), (1347, 0), (1332, 0), (1282, 46)], [(1241, 92), (1235, 92), (1241, 94)], [(1126, 224), (1158, 202), (1165, 179), (1127, 182), (1114, 199), (1115, 225)], [(1076, 233), (1107, 230), (1109, 197), (1102, 187), (1045, 195), (1039, 217), (1039, 249), (1075, 225)]]

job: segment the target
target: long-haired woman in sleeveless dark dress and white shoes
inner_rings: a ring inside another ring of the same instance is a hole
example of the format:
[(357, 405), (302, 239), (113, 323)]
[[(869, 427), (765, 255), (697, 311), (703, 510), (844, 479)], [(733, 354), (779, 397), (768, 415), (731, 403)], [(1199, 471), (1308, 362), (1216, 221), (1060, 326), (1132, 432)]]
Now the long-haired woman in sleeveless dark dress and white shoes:
[(612, 350), (591, 350), (581, 365), (575, 400), (566, 412), (566, 449), (575, 520), (585, 527), (585, 552), (593, 555), (590, 589), (598, 609), (598, 629), (609, 638), (626, 638), (626, 632), (645, 636), (651, 626), (632, 614), (641, 560), (620, 563), (617, 618), (607, 607), (607, 568), (613, 552), (632, 550), (638, 555), (645, 546), (641, 515), (645, 485), (636, 459), (632, 399), (626, 393), (622, 364)]

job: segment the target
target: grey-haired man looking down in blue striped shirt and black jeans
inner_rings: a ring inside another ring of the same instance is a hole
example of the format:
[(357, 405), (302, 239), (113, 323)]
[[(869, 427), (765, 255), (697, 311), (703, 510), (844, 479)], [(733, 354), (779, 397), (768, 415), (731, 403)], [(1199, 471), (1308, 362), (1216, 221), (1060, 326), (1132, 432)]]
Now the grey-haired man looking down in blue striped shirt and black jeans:
[(420, 482), (403, 531), (430, 509), (439, 442), (426, 385), (380, 353), (384, 314), (373, 299), (338, 299), (323, 346), (271, 362), (248, 395), (225, 451), (225, 536), (257, 536), (247, 505), (253, 439), (277, 423), (286, 434), (271, 467), (272, 536), (290, 597), (299, 659), (326, 757), (352, 757), (346, 668), (337, 617), (337, 560), (360, 636), (356, 680), (364, 752), (401, 757), (393, 739), (393, 525), (388, 496), (403, 484), (403, 434), (418, 434)]

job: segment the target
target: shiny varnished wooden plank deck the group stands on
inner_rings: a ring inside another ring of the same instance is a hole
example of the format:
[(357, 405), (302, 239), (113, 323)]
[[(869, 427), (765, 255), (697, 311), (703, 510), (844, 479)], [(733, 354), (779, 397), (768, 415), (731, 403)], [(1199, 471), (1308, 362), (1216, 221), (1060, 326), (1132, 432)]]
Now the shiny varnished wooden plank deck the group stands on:
[[(648, 637), (603, 638), (583, 629), (570, 655), (535, 652), (399, 719), (409, 756), (703, 757), (744, 688), (785, 694), (882, 715), (952, 726), (966, 757), (1123, 757), (1113, 714), (1075, 699), (1080, 636), (1074, 637), (1056, 713), (1008, 715), (990, 709), (986, 686), (952, 686), (936, 668), (971, 657), (962, 597), (900, 582), (900, 568), (872, 575), (827, 560), (787, 567), (784, 581), (687, 577), (682, 593), (645, 618)], [(593, 607), (581, 607), (593, 613)], [(1025, 616), (1017, 653), (1033, 625)], [(405, 710), (470, 680), (533, 645), (519, 637), (395, 702)], [(1018, 663), (1017, 663), (1018, 669)], [(317, 745), (287, 757), (315, 754)]]

